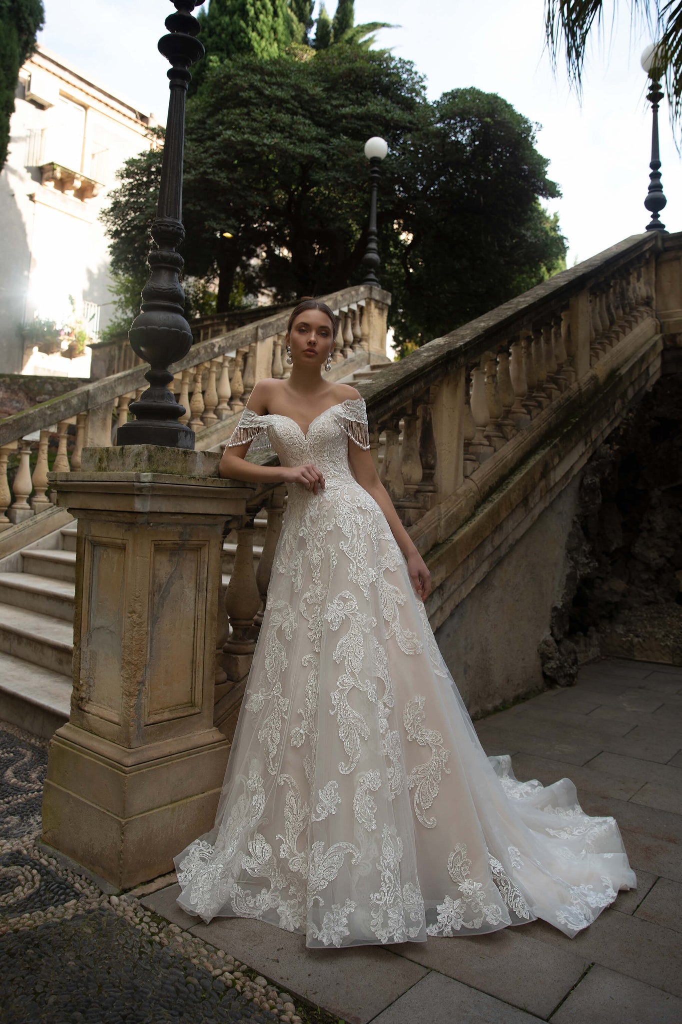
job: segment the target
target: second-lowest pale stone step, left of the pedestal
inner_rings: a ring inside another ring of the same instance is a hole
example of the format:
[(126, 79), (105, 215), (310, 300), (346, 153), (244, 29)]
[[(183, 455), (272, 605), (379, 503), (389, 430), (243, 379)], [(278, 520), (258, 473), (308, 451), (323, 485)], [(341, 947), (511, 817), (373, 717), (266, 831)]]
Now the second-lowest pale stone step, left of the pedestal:
[(63, 618), (0, 604), (0, 651), (71, 676), (74, 627)]

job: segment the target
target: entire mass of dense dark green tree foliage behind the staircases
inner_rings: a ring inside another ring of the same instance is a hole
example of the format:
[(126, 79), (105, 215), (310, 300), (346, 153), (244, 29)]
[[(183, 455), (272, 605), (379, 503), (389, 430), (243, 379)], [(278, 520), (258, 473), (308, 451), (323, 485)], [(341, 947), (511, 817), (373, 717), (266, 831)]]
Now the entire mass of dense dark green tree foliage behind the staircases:
[[(207, 76), (186, 119), (185, 271), (218, 281), (219, 310), (244, 292), (289, 301), (362, 281), (370, 135), (390, 145), (380, 280), (401, 345), (556, 267), (565, 247), (539, 200), (558, 190), (534, 126), (499, 96), (460, 89), (429, 103), (413, 65), (357, 46), (240, 56)], [(120, 274), (144, 265), (160, 167), (154, 152), (127, 161), (103, 214)]]

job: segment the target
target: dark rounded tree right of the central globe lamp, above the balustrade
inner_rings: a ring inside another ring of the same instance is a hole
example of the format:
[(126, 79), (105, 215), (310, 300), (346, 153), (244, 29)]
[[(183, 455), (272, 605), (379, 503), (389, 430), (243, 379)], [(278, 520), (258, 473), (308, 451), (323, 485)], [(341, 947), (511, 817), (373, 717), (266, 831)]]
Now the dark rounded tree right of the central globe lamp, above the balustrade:
[(557, 218), (539, 202), (560, 193), (535, 148), (537, 127), (479, 89), (434, 103), (405, 161), (404, 214), (389, 250), (399, 342), (452, 331), (562, 265)]

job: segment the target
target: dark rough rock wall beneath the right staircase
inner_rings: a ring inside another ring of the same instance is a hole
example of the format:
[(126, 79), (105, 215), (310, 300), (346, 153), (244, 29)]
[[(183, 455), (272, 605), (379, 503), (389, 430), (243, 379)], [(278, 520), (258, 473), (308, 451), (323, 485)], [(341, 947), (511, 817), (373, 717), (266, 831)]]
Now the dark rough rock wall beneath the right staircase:
[(542, 644), (554, 683), (598, 654), (682, 665), (682, 375), (663, 376), (582, 473), (561, 599)]

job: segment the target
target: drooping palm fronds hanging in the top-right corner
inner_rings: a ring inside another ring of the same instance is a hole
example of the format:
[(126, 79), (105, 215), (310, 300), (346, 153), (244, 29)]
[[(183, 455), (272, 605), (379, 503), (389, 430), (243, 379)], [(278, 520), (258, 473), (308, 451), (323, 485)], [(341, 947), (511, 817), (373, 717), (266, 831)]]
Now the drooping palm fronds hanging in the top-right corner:
[[(658, 72), (665, 78), (673, 124), (682, 121), (682, 0), (628, 0), (631, 27), (646, 27), (657, 42)], [(616, 16), (616, 5), (613, 5)], [(569, 80), (582, 91), (588, 40), (604, 22), (603, 0), (545, 0), (545, 35), (552, 63), (564, 50)]]

